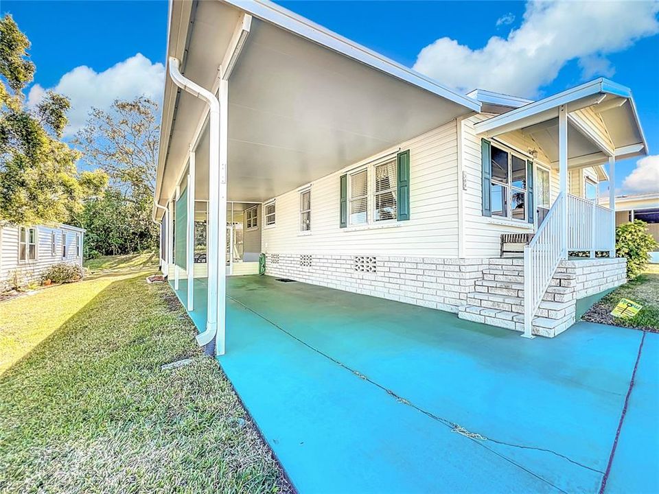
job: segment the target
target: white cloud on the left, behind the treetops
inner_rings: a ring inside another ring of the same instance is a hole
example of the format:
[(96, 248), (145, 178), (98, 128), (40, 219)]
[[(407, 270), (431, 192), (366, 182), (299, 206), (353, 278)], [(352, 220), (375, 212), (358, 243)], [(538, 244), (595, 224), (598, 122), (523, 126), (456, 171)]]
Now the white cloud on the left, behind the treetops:
[[(113, 67), (96, 72), (81, 65), (62, 75), (52, 89), (71, 99), (69, 125), (65, 137), (71, 137), (83, 125), (92, 107), (107, 110), (115, 99), (132, 99), (147, 96), (161, 102), (165, 67), (161, 63), (137, 54), (126, 58)], [(27, 105), (34, 108), (45, 93), (39, 84), (34, 84), (27, 95)]]

